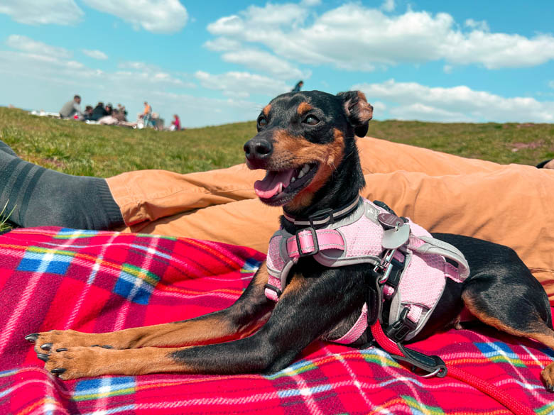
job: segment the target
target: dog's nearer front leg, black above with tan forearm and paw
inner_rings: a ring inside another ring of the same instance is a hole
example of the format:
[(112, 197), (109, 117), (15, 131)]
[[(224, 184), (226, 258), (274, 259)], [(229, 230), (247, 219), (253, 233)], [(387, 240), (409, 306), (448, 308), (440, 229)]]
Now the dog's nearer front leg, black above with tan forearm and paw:
[(336, 292), (325, 294), (325, 287), (312, 289), (318, 282), (293, 279), (267, 323), (246, 338), (188, 348), (68, 348), (54, 351), (46, 368), (64, 380), (157, 372), (275, 372), (289, 365), (300, 350), (344, 316), (344, 303), (340, 301), (342, 307), (337, 306)]

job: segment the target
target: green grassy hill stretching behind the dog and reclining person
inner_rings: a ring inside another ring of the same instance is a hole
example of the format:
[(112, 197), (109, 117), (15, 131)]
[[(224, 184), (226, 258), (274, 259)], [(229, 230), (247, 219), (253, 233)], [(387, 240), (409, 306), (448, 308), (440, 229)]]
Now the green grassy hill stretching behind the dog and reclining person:
[[(0, 108), (0, 140), (26, 160), (72, 175), (228, 167), (243, 162), (242, 145), (255, 133), (254, 121), (169, 132), (88, 125)], [(554, 157), (554, 124), (371, 121), (368, 135), (500, 163), (536, 165)]]

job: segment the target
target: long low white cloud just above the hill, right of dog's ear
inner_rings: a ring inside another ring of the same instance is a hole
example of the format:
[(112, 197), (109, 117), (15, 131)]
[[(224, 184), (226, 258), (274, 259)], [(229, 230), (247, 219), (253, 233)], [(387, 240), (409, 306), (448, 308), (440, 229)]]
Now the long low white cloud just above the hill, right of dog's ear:
[[(389, 114), (398, 119), (425, 121), (554, 122), (554, 101), (515, 96), (506, 98), (465, 86), (427, 87), (415, 82), (357, 84), (369, 101), (386, 102)], [(379, 113), (376, 111), (376, 117)]]

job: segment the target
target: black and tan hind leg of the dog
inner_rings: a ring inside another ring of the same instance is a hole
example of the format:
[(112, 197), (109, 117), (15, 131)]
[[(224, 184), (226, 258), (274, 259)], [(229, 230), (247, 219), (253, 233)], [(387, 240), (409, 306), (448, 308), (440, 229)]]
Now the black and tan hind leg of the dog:
[[(495, 266), (486, 274), (470, 277), (462, 292), (465, 306), (489, 326), (514, 336), (531, 338), (554, 350), (548, 296), (526, 267), (518, 271), (517, 278), (509, 277), (514, 275), (513, 265), (504, 269)], [(554, 392), (554, 363), (545, 367), (541, 377), (546, 388)]]

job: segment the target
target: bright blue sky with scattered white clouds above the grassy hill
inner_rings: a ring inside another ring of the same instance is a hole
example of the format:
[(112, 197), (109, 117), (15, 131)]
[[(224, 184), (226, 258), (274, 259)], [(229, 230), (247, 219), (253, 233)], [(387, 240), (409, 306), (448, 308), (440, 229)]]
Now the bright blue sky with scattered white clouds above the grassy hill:
[(554, 122), (554, 1), (0, 0), (0, 105), (185, 127), (358, 89), (377, 120)]

